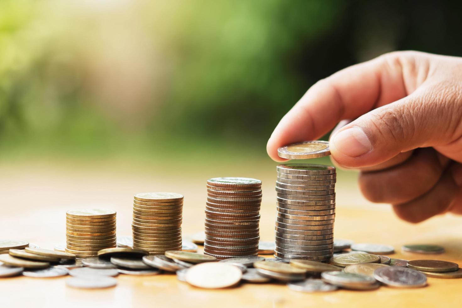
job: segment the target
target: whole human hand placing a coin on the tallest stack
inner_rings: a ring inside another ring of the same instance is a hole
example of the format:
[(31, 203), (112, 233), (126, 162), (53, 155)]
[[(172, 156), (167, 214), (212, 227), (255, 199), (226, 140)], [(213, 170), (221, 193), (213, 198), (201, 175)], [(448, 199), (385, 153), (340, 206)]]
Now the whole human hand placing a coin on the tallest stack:
[[(462, 58), (393, 52), (313, 85), (268, 140), (277, 149), (330, 137), (335, 164), (360, 170), (365, 197), (417, 223), (462, 214)], [(341, 127), (343, 126), (343, 127)]]

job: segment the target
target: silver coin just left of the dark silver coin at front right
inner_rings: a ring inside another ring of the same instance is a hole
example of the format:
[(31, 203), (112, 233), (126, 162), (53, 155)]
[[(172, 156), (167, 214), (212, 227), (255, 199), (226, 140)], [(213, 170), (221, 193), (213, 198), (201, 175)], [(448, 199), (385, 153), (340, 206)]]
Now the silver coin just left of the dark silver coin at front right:
[(329, 284), (334, 284), (345, 289), (368, 289), (369, 285), (375, 285), (374, 278), (366, 275), (332, 271), (322, 272), (321, 279)]

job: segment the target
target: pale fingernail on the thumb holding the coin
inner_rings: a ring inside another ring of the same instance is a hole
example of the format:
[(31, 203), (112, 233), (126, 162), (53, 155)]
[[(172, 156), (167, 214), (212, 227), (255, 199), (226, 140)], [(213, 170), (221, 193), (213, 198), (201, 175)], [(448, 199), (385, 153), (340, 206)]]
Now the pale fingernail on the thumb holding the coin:
[(358, 157), (372, 149), (371, 141), (359, 127), (348, 128), (337, 133), (333, 141), (337, 150), (349, 157)]

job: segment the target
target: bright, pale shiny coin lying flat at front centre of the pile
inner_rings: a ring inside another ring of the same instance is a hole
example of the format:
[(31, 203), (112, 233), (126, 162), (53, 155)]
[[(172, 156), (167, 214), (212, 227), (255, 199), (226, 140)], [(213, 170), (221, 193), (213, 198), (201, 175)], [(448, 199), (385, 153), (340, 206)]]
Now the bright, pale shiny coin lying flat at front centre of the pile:
[(220, 289), (239, 283), (242, 272), (230, 264), (207, 262), (188, 269), (186, 281), (196, 287)]

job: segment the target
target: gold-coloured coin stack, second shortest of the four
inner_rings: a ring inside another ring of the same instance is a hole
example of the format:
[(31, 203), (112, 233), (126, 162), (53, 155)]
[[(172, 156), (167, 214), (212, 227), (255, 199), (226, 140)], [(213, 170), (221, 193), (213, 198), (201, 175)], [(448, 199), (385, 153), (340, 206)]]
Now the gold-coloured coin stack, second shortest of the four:
[(137, 193), (133, 201), (133, 248), (151, 255), (181, 250), (183, 195)]

